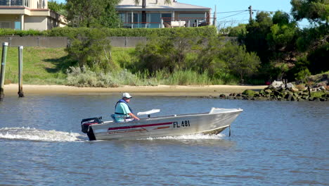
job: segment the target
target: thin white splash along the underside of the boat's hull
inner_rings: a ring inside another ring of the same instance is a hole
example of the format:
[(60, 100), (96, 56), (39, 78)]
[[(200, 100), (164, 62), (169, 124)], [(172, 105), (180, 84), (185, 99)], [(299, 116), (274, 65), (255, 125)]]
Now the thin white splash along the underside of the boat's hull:
[(141, 140), (222, 140), (225, 137), (224, 134), (218, 135), (180, 135), (180, 136), (167, 136), (167, 137), (148, 137)]

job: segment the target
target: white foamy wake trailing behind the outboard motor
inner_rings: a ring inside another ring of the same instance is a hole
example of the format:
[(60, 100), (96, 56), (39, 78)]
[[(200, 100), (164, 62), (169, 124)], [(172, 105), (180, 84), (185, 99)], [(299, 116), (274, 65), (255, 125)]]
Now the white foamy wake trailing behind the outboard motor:
[(87, 140), (79, 133), (36, 128), (0, 128), (0, 139), (38, 142), (77, 142)]

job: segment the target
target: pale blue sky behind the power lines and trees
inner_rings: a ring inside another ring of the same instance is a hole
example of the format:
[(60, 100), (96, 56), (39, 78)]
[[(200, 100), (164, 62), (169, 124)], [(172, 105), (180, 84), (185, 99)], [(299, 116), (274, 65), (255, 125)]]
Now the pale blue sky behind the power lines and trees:
[[(65, 3), (65, 0), (56, 0), (59, 3)], [(249, 11), (248, 7), (252, 6), (252, 10), (257, 11), (284, 11), (290, 13), (290, 0), (177, 0), (183, 4), (193, 4), (212, 8), (212, 16), (217, 7), (217, 21), (221, 27), (235, 26), (238, 23), (248, 23)], [(240, 12), (231, 12), (240, 11)], [(231, 12), (231, 13), (226, 13)], [(253, 18), (257, 12), (254, 12)], [(300, 27), (309, 25), (307, 20), (299, 23)]]

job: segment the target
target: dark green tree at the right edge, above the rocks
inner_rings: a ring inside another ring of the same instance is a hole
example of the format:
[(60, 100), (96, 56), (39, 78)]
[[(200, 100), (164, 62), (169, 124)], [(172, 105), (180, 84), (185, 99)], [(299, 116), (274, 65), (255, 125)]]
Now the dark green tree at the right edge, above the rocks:
[(312, 74), (329, 70), (329, 1), (292, 0), (295, 20), (307, 18), (313, 27), (304, 28), (297, 39), (297, 49), (306, 54), (298, 69), (308, 68)]

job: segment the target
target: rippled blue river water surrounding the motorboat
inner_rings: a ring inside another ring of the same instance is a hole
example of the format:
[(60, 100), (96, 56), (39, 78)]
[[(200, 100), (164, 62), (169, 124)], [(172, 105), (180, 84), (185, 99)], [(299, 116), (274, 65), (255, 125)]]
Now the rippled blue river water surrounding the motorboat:
[(328, 102), (134, 97), (154, 116), (243, 113), (219, 135), (89, 142), (80, 120), (120, 95), (6, 95), (0, 102), (0, 185), (329, 185)]

